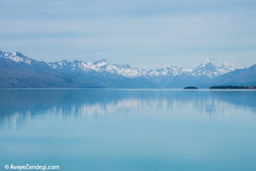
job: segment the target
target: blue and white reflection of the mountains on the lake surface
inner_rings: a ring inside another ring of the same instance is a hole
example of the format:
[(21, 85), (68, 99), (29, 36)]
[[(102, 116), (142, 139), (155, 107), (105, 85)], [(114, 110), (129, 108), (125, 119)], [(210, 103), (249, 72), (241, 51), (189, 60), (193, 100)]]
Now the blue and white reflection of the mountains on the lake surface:
[(210, 119), (230, 115), (237, 106), (256, 111), (253, 90), (0, 89), (0, 94), (0, 126), (20, 125), (35, 115), (108, 117), (132, 110), (178, 115), (190, 109)]

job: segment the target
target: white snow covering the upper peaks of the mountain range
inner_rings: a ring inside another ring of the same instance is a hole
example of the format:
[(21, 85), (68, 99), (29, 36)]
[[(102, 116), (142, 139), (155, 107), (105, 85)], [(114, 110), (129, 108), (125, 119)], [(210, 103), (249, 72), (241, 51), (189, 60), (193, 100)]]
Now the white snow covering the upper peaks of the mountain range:
[[(10, 59), (16, 63), (25, 63), (31, 65), (32, 62), (36, 60), (31, 59), (21, 53), (13, 52), (8, 53), (0, 51), (0, 57)], [(178, 67), (174, 65), (166, 65), (160, 69), (147, 70), (132, 68), (128, 64), (110, 64), (105, 59), (101, 59), (95, 62), (82, 62), (75, 60), (70, 62), (68, 60), (62, 60), (59, 62), (48, 62), (47, 63), (52, 69), (68, 69), (72, 71), (82, 71), (82, 72), (109, 72), (111, 74), (117, 74), (123, 77), (175, 77), (182, 74), (188, 76), (206, 76), (208, 78), (216, 78), (227, 72), (233, 71), (235, 69), (246, 68), (246, 66), (234, 65), (229, 62), (218, 63), (215, 58), (207, 58), (195, 69), (185, 69), (183, 67)]]

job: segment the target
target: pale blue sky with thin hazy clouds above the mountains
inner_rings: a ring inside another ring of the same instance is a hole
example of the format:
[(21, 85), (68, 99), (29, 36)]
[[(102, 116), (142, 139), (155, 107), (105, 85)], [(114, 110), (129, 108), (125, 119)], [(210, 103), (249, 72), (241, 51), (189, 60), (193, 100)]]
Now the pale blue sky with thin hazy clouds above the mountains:
[(256, 63), (254, 0), (0, 0), (0, 50), (156, 69)]

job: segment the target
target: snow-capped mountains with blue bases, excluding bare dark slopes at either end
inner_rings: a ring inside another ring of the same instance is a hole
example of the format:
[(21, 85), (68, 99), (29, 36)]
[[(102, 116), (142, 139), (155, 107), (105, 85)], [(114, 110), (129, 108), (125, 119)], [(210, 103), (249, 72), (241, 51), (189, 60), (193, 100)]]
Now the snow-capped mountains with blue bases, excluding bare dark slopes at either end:
[(133, 68), (128, 64), (110, 64), (104, 59), (95, 62), (78, 60), (73, 62), (68, 60), (39, 62), (18, 52), (3, 51), (0, 51), (0, 59), (9, 60), (22, 69), (32, 70), (39, 74), (58, 75), (58, 77), (63, 76), (62, 78), (69, 77), (73, 81), (75, 79), (75, 82), (79, 82), (77, 87), (183, 87), (200, 85), (230, 71), (246, 67), (229, 62), (218, 63), (214, 58), (207, 58), (195, 69), (166, 65), (153, 70)]

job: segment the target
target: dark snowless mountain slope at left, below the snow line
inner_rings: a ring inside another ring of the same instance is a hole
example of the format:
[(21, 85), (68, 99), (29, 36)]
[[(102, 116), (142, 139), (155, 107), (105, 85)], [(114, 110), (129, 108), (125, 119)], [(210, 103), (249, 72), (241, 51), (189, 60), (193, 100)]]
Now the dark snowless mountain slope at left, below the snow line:
[[(39, 64), (37, 64), (40, 66)], [(19, 66), (17, 63), (0, 58), (0, 87), (3, 88), (82, 88), (91, 85), (81, 82), (78, 79), (60, 75), (51, 69), (36, 71), (32, 67)]]

